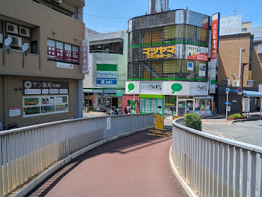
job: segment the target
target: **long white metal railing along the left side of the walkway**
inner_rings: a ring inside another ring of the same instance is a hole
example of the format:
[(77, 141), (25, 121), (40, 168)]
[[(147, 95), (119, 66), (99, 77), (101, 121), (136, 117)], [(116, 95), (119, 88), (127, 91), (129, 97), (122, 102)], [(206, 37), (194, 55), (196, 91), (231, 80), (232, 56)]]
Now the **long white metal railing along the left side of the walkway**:
[(153, 125), (154, 113), (148, 113), (63, 120), (0, 132), (0, 196), (85, 146)]

